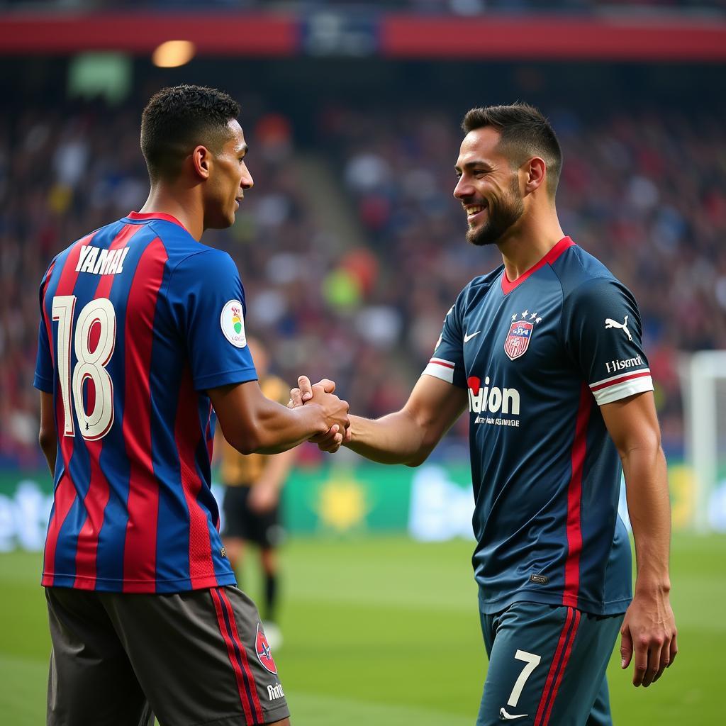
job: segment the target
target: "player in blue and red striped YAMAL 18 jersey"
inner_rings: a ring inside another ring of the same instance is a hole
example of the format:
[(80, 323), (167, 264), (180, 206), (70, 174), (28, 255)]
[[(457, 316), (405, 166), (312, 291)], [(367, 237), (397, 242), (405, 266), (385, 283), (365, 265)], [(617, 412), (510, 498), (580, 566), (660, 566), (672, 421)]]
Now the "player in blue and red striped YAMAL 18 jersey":
[(144, 207), (74, 242), (41, 283), (52, 726), (289, 723), (219, 536), (212, 414), (240, 452), (276, 453), (343, 430), (348, 404), (322, 387), (309, 410), (261, 393), (237, 268), (200, 242), (253, 185), (239, 114), (214, 89), (155, 94)]

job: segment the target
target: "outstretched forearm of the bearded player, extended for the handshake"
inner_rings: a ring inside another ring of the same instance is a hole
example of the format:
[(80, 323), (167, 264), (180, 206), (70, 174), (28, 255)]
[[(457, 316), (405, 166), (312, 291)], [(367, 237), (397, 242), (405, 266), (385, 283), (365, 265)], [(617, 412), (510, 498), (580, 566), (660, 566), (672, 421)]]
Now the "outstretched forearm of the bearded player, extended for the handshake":
[(381, 464), (420, 464), (430, 449), (425, 444), (425, 430), (412, 415), (402, 409), (371, 420), (351, 416), (348, 449)]

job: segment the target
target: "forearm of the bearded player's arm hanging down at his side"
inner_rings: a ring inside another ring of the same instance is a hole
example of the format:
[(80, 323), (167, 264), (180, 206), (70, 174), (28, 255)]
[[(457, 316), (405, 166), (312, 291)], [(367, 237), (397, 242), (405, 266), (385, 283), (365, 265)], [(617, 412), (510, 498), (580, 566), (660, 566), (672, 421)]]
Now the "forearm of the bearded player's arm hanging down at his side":
[(635, 591), (668, 592), (671, 507), (663, 449), (659, 445), (631, 449), (622, 463), (635, 539)]

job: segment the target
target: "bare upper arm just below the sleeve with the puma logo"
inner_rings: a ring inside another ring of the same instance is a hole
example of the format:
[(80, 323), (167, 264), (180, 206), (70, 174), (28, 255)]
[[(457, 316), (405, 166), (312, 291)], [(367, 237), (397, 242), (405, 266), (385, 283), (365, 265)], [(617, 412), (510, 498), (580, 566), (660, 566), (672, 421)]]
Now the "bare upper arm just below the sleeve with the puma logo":
[(603, 404), (600, 412), (621, 456), (632, 449), (657, 449), (661, 445), (653, 391)]

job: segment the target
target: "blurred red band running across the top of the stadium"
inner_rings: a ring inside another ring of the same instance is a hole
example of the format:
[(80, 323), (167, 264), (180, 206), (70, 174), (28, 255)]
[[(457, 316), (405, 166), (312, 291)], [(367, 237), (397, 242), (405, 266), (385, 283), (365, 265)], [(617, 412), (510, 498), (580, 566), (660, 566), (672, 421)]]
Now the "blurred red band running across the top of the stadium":
[[(337, 44), (346, 54), (356, 18), (338, 13)], [(320, 16), (197, 13), (5, 13), (0, 54), (71, 54), (90, 50), (150, 53), (168, 40), (192, 41), (199, 55), (285, 57), (315, 52), (304, 38)], [(507, 60), (726, 60), (726, 21), (681, 15), (571, 17), (372, 16), (364, 24), (367, 52), (396, 58)], [(361, 30), (356, 26), (356, 32)], [(331, 50), (333, 49), (333, 50)]]

